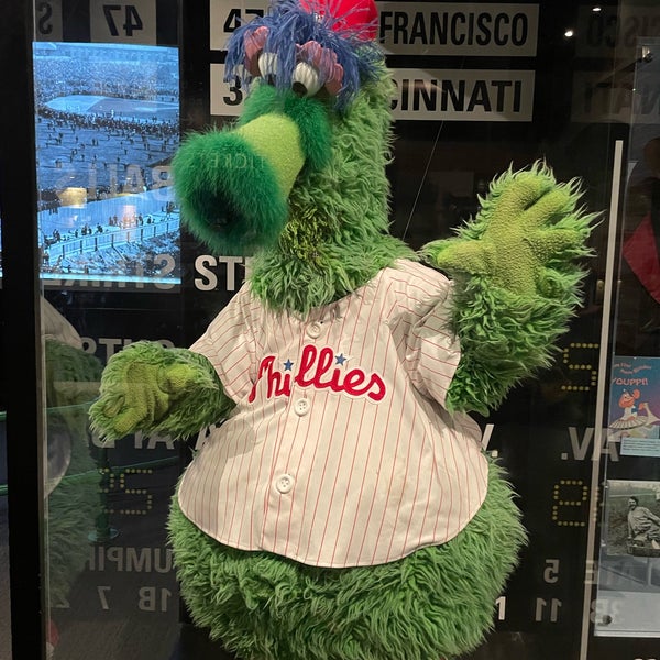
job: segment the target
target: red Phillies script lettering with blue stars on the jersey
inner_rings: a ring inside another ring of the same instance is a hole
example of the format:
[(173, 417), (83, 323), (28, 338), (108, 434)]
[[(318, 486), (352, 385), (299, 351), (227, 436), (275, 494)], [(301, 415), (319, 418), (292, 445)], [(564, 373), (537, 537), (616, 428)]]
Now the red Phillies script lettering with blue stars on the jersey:
[(351, 396), (364, 395), (374, 402), (383, 400), (383, 378), (377, 374), (367, 374), (362, 369), (341, 369), (345, 360), (342, 354), (337, 355), (328, 346), (319, 351), (314, 344), (308, 344), (302, 349), (300, 366), (294, 372), (294, 363), (290, 360), (283, 362), (284, 371), (279, 371), (275, 367), (275, 355), (268, 355), (261, 361), (256, 383), (248, 400), (252, 403), (256, 398), (256, 386), (262, 378), (266, 380), (268, 386), (266, 398), (290, 396), (292, 383), (295, 383), (300, 387), (332, 389)]

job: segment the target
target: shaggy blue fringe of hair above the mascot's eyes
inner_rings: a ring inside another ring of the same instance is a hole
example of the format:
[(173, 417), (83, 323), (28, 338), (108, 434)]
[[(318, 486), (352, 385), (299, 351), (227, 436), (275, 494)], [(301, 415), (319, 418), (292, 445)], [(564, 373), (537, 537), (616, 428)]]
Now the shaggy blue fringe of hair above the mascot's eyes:
[(322, 15), (302, 9), (297, 0), (280, 0), (271, 4), (264, 16), (239, 26), (231, 35), (224, 61), (224, 80), (230, 82), (238, 76), (245, 94), (250, 92), (253, 76), (243, 66), (245, 35), (265, 25), (268, 36), (264, 52), (277, 54), (275, 86), (282, 90), (290, 89), (296, 66), (296, 45), (316, 41), (323, 48), (334, 51), (337, 62), (343, 67), (343, 82), (337, 96), (336, 109), (344, 110), (362, 82), (377, 78), (378, 64), (384, 56), (374, 41), (360, 38), (355, 31), (339, 29), (336, 24), (342, 16), (332, 16), (331, 12), (331, 0), (327, 0)]

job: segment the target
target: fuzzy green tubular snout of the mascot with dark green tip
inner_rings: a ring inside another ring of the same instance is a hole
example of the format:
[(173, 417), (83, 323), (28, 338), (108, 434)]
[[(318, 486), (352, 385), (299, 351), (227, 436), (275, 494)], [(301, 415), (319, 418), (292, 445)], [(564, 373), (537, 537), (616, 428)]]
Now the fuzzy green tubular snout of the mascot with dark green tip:
[(304, 168), (322, 167), (331, 130), (322, 105), (263, 85), (261, 111), (237, 127), (189, 134), (173, 163), (184, 226), (218, 254), (252, 255), (276, 244)]

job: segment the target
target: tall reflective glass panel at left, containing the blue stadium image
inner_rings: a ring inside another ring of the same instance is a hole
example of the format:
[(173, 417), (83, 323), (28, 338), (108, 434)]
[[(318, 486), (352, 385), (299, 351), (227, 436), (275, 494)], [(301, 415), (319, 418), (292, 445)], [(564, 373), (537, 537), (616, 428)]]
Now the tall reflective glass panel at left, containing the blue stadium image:
[(33, 44), (47, 430), (47, 635), (55, 660), (169, 658), (179, 603), (170, 438), (89, 429), (108, 359), (182, 345), (176, 1), (41, 3)]

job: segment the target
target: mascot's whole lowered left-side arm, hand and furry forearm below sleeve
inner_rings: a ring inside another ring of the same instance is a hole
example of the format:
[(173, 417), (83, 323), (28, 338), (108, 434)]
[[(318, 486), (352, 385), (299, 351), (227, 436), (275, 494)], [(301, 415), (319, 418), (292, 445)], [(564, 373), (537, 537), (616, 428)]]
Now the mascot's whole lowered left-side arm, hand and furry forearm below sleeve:
[(108, 361), (89, 415), (91, 429), (107, 440), (135, 431), (183, 438), (232, 407), (207, 358), (140, 341)]

